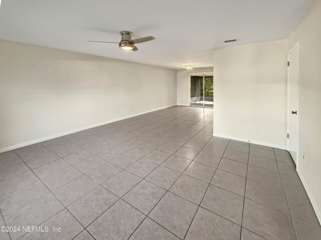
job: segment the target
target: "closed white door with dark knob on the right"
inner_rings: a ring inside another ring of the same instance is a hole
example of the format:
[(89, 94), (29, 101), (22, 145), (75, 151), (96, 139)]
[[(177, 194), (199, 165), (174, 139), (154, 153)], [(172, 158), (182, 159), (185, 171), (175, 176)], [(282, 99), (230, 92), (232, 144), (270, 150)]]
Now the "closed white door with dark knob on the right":
[(297, 165), (298, 149), (298, 44), (288, 54), (288, 151)]

